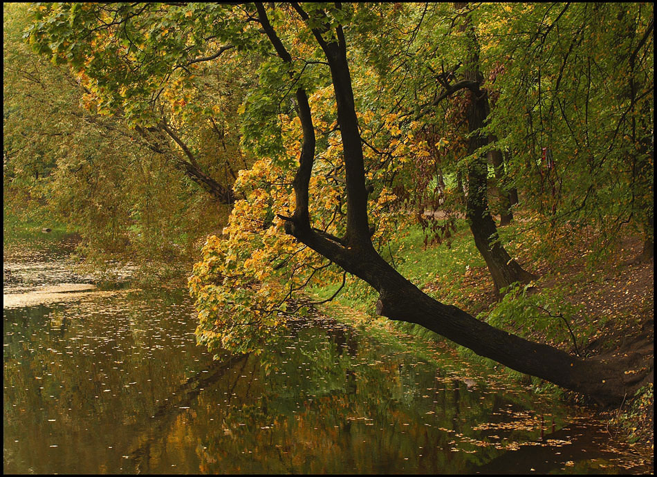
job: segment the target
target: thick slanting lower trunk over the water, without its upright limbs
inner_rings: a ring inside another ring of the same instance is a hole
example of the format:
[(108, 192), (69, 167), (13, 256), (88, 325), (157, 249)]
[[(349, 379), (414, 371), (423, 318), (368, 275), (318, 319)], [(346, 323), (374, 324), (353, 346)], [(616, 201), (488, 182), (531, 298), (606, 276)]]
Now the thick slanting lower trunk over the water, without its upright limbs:
[[(358, 248), (338, 250), (311, 230), (290, 230), (299, 241), (378, 290), (378, 315), (423, 326), (516, 371), (589, 395), (602, 406), (622, 402), (643, 384), (652, 369), (651, 360), (638, 353), (607, 362), (580, 359), (546, 344), (530, 342), (432, 299), (402, 277), (371, 245), (361, 243)], [(625, 374), (628, 370), (636, 373)]]

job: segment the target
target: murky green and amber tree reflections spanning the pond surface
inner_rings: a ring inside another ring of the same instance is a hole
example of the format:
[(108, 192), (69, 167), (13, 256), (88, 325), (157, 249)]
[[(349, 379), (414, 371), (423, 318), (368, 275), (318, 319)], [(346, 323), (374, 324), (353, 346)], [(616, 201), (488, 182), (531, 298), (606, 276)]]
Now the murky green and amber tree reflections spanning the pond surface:
[[(35, 416), (56, 415), (58, 432), (93, 427), (120, 435), (110, 442), (115, 450), (98, 454), (98, 465), (109, 471), (163, 471), (175, 457), (172, 464), (198, 462), (204, 472), (457, 472), (500, 453), (449, 450), (459, 439), (455, 432), (472, 435), (472, 423), (490, 419), (480, 393), (333, 320), (292, 324), (258, 356), (224, 357), (199, 370), (188, 342), (185, 353), (177, 348), (189, 326), (178, 330), (174, 317), (158, 317), (172, 316), (167, 306), (113, 312), (108, 304), (99, 315), (81, 306), (68, 315), (64, 337), (62, 328), (46, 326), (46, 312), (10, 319), (24, 327), (6, 347), (6, 355), (21, 359), (6, 368), (15, 385), (11, 402), (29, 403)], [(77, 338), (66, 341), (71, 337)], [(49, 383), (37, 393), (35, 377)], [(111, 384), (112, 393), (103, 394), (101, 383)], [(509, 402), (499, 399), (494, 409)], [(10, 426), (20, 422), (19, 412), (6, 408)], [(80, 433), (90, 442), (71, 441), (66, 455), (82, 445), (85, 456), (95, 456), (91, 448), (107, 448), (101, 434)]]

